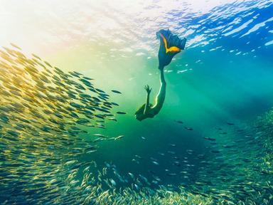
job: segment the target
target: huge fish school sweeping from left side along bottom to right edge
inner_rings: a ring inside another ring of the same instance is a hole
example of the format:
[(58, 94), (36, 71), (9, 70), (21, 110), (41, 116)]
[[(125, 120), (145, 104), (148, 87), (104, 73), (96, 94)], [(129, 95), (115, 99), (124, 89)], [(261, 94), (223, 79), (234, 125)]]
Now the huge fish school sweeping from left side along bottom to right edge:
[[(64, 73), (11, 46), (0, 51), (0, 204), (273, 204), (273, 111), (250, 127), (228, 122), (202, 136), (203, 154), (186, 150), (196, 164), (178, 157), (181, 149), (170, 143), (166, 153), (134, 155), (139, 166), (149, 160), (156, 167), (151, 176), (124, 175), (115, 164), (101, 169), (82, 156), (96, 152), (97, 142), (122, 139), (90, 132), (126, 113), (112, 114), (118, 104), (92, 78)], [(162, 167), (159, 157), (180, 171)], [(159, 169), (186, 181), (164, 185)]]

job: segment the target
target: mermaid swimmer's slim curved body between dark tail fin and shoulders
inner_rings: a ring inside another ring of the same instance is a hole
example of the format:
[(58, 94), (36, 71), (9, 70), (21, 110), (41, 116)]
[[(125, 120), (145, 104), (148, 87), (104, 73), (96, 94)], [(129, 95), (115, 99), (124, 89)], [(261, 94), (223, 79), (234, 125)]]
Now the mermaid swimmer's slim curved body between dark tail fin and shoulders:
[(156, 95), (156, 103), (153, 107), (151, 107), (152, 112), (154, 112), (154, 115), (158, 114), (161, 110), (161, 107), (163, 106), (165, 95), (166, 95), (166, 81), (164, 78), (164, 69), (160, 69), (160, 90), (159, 94)]

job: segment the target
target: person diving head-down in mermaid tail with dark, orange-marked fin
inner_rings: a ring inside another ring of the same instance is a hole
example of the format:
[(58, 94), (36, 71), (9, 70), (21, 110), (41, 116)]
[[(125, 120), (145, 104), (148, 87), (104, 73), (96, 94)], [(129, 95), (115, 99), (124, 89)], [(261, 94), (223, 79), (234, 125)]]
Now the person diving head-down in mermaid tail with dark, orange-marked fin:
[(156, 32), (156, 37), (160, 40), (159, 47), (159, 70), (160, 70), (160, 89), (159, 93), (156, 95), (156, 100), (154, 106), (150, 104), (150, 93), (151, 88), (149, 85), (144, 86), (147, 92), (146, 103), (144, 103), (137, 112), (135, 117), (137, 120), (141, 121), (146, 118), (152, 118), (159, 113), (161, 107), (163, 106), (165, 95), (166, 95), (166, 80), (164, 78), (164, 67), (171, 63), (173, 56), (184, 50), (186, 44), (186, 38), (178, 38), (178, 36), (173, 35), (169, 30), (163, 30)]

